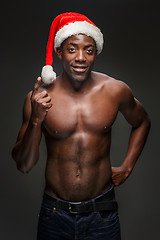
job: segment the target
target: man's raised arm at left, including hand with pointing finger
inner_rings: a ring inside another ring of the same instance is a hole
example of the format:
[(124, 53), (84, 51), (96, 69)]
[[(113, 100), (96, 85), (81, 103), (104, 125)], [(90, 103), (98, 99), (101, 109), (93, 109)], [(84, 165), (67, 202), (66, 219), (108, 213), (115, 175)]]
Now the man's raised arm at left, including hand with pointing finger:
[(40, 82), (41, 78), (38, 78), (34, 90), (25, 99), (22, 127), (12, 150), (17, 168), (23, 173), (29, 172), (38, 161), (41, 125), (52, 107), (51, 98), (47, 92), (39, 90)]

